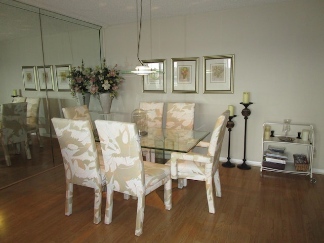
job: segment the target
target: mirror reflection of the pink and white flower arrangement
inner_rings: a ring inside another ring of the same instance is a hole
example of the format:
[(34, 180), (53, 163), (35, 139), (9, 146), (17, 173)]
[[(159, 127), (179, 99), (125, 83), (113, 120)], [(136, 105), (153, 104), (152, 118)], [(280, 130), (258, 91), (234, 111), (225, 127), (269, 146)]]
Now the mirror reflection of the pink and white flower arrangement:
[(72, 67), (69, 75), (70, 79), (70, 89), (71, 95), (76, 99), (77, 93), (85, 94), (89, 92), (88, 87), (90, 85), (89, 75), (92, 72), (92, 68), (85, 68), (85, 63), (82, 60), (82, 65), (77, 67)]

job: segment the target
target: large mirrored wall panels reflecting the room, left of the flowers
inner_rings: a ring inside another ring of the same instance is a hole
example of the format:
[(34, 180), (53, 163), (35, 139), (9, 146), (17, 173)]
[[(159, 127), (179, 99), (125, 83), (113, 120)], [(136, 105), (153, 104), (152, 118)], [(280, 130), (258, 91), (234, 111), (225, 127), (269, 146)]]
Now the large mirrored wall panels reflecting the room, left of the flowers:
[[(62, 163), (50, 119), (63, 117), (62, 107), (77, 105), (62, 71), (81, 66), (82, 60), (87, 66), (101, 64), (101, 31), (97, 25), (15, 1), (0, 1), (0, 102), (12, 102), (13, 90), (23, 97), (41, 98), (39, 128), (44, 139), (41, 148), (36, 136), (31, 136), (32, 159), (11, 154), (10, 167), (6, 166), (0, 149), (0, 188)], [(36, 70), (31, 83), (23, 79), (23, 67)], [(42, 70), (49, 70), (48, 81), (43, 83), (38, 76)], [(14, 163), (15, 160), (18, 162)]]

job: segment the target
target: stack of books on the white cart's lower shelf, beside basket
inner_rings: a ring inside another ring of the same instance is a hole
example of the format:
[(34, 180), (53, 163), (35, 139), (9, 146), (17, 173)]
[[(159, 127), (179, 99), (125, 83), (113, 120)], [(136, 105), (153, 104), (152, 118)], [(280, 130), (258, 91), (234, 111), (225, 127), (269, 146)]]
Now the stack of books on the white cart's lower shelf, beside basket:
[(264, 151), (263, 166), (278, 170), (285, 170), (286, 159), (288, 155), (282, 151), (273, 150), (271, 148)]

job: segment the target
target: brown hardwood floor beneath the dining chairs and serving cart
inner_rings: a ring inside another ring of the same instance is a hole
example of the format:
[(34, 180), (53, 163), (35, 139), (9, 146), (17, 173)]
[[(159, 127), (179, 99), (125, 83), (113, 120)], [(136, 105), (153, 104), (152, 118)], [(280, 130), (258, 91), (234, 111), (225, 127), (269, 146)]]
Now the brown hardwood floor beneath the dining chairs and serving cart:
[(171, 211), (163, 187), (146, 196), (143, 234), (135, 236), (137, 201), (114, 194), (113, 219), (93, 223), (94, 193), (74, 186), (64, 215), (64, 167), (0, 190), (0, 242), (323, 242), (324, 175), (309, 177), (220, 166), (222, 197), (208, 212), (205, 183), (173, 181)]

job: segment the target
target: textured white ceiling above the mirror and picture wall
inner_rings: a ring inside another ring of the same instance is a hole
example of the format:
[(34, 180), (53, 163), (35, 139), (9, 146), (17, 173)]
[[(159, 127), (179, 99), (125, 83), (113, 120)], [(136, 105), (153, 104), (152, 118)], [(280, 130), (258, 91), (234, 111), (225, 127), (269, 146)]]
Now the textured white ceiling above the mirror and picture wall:
[[(142, 18), (143, 20), (167, 18), (291, 1), (294, 0), (142, 0)], [(19, 0), (17, 2), (100, 26), (136, 22), (137, 3), (140, 6), (140, 0)]]

